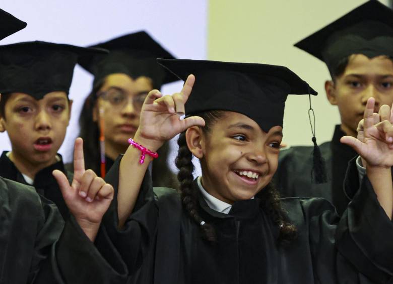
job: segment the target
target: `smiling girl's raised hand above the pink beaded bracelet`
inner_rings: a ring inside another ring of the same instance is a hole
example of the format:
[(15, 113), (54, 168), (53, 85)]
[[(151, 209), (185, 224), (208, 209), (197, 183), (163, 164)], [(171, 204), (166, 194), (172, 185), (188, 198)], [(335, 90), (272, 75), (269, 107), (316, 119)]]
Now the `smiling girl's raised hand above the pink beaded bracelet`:
[(186, 130), (191, 126), (204, 126), (201, 117), (188, 117), (184, 115), (184, 104), (187, 102), (194, 84), (194, 75), (189, 75), (179, 93), (172, 96), (162, 96), (159, 90), (149, 92), (141, 111), (140, 124), (135, 139), (145, 140), (144, 145), (158, 149), (166, 140)]

